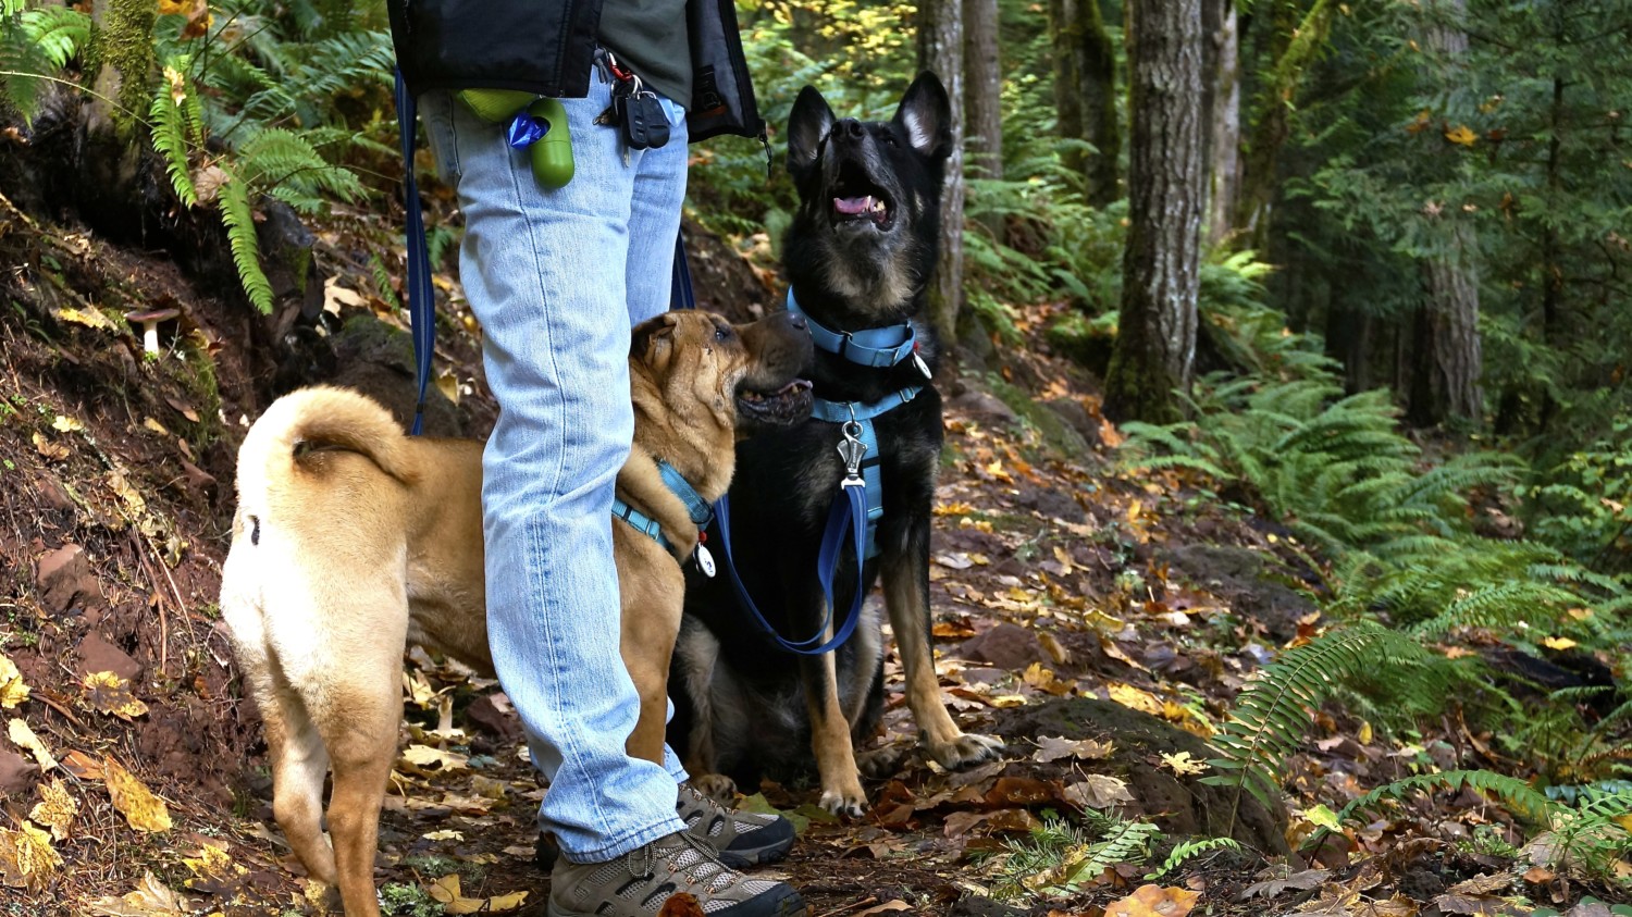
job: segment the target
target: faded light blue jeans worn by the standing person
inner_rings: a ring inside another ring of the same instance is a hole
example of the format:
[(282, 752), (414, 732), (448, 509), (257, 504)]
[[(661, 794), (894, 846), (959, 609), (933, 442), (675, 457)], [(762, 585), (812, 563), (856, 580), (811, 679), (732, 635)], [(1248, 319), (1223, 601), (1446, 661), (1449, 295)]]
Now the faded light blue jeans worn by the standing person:
[[(669, 307), (685, 196), (685, 122), (625, 150), (592, 124), (609, 86), (563, 100), (576, 173), (545, 191), (503, 127), (449, 93), (419, 100), (441, 171), (459, 188), (459, 274), (481, 321), (499, 403), (483, 455), (488, 641), (550, 782), (539, 826), (568, 860), (615, 858), (682, 831), (667, 767), (623, 751), (640, 702), (619, 654), (612, 488), (630, 450), (630, 326)], [(666, 101), (666, 100), (664, 100)]]

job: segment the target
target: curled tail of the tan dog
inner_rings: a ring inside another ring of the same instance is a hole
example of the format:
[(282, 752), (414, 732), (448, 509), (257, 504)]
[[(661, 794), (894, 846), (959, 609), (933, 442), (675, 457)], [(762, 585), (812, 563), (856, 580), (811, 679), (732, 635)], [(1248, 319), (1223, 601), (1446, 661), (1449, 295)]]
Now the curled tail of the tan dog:
[(302, 445), (356, 452), (405, 485), (416, 476), (403, 427), (390, 411), (351, 388), (320, 385), (279, 398), (255, 421), (238, 450), (238, 480), (281, 480), (281, 472), (300, 465), (295, 449)]

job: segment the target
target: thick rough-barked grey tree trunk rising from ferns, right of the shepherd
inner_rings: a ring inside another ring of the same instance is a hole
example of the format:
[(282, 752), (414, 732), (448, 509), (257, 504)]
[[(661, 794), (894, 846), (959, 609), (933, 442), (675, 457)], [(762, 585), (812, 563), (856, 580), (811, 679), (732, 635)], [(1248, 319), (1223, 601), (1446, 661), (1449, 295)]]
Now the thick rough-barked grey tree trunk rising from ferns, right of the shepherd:
[(1196, 354), (1201, 263), (1201, 5), (1128, 5), (1133, 131), (1128, 245), (1116, 348), (1105, 379), (1113, 419), (1172, 421)]

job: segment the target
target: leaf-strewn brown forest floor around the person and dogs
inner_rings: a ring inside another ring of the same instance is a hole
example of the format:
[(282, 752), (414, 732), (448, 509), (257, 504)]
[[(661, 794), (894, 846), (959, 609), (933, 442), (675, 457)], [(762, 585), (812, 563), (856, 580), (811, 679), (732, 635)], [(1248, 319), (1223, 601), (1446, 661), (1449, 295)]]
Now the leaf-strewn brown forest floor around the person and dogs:
[[(356, 369), (258, 348), (336, 336), (343, 318), (403, 326), (351, 241), (380, 232), (367, 225), (343, 215), (318, 230), (317, 261), (333, 272), (322, 308), (259, 320), (163, 253), (0, 201), (0, 263), (18, 266), (0, 277), (0, 914), (325, 912), (323, 889), (300, 878), (273, 824), (258, 715), (240, 698), (215, 599), (248, 419), (274, 379)], [(769, 277), (765, 246), (751, 255), (754, 269), (726, 274)], [(444, 330), (457, 331), (457, 284), (437, 284), (455, 303)], [(157, 357), (121, 303), (181, 310)], [(1118, 468), (1120, 434), (1092, 377), (1043, 333), (1059, 308), (1022, 310), (1022, 341), (940, 380), (937, 671), (965, 729), (1005, 736), (1002, 760), (947, 773), (907, 754), (868, 785), (875, 804), (862, 819), (827, 816), (808, 783), (767, 783), (744, 804), (801, 827), (793, 855), (767, 873), (796, 883), (821, 917), (1609, 914), (1583, 901), (1612, 901), (1608, 889), (1534, 865), (1514, 847), (1521, 832), (1477, 793), (1319, 827), (1425, 769), (1524, 775), (1456, 718), (1394, 739), (1338, 707), (1314, 711), (1284, 773), (1286, 813), (1260, 809), (1257, 826), (1245, 824), (1250, 800), (1237, 819), (1240, 793), (1198, 783), (1196, 738), (1279, 649), (1320, 631), (1320, 578), (1248, 496)], [(468, 333), (442, 341), (457, 426), (480, 436), (493, 408), (477, 346)], [(400, 343), (369, 352), (406, 392)], [(1467, 633), (1441, 649), (1487, 645)], [(893, 656), (886, 674), (875, 741), (909, 747)], [(403, 747), (375, 870), (390, 912), (543, 914), (543, 790), (499, 687), (410, 654)], [(1146, 858), (1074, 868), (1097, 835), (1062, 834), (1062, 819), (1103, 826), (1106, 814), (1152, 819), (1175, 840), (1234, 834), (1257, 852), (1216, 848), (1157, 876), (1169, 840)], [(1051, 855), (1028, 842), (1040, 827), (1053, 829)], [(1275, 855), (1286, 844), (1299, 852)]]

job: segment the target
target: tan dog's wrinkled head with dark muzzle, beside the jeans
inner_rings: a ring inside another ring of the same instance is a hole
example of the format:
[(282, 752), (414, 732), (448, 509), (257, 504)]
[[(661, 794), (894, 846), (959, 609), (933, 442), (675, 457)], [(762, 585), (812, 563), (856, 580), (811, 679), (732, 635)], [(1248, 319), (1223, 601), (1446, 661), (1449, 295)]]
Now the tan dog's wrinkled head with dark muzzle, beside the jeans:
[(738, 437), (809, 418), (803, 375), (814, 357), (798, 315), (731, 325), (712, 312), (666, 312), (635, 328), (630, 354), (659, 388), (685, 385), (698, 405), (726, 413)]

